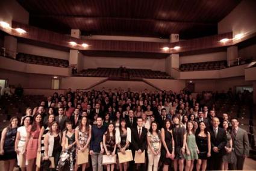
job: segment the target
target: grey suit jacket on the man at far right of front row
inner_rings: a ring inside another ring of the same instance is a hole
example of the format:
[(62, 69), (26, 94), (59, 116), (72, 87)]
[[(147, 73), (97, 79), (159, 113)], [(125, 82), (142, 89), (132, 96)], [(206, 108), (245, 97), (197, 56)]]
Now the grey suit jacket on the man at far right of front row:
[(231, 131), (231, 137), (233, 140), (233, 148), (235, 150), (236, 155), (248, 156), (249, 155), (249, 139), (245, 129), (238, 128), (236, 135), (234, 135), (234, 132)]

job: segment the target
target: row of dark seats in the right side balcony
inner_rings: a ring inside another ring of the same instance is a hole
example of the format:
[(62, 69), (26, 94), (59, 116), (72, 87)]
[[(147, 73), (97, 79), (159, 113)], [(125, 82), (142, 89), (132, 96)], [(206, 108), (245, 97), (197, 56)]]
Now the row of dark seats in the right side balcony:
[(204, 63), (187, 63), (181, 64), (181, 71), (193, 71), (193, 70), (216, 70), (226, 67), (226, 61), (211, 61)]

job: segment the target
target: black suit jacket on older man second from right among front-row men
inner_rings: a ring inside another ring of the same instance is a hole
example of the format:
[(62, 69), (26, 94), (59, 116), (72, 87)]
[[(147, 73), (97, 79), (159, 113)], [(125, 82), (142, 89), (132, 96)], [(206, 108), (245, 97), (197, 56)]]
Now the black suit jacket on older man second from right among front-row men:
[[(213, 156), (219, 156), (225, 154), (224, 147), (226, 146), (226, 132), (223, 128), (218, 127), (217, 137), (215, 138), (213, 126), (210, 127), (210, 135), (211, 135), (211, 154)], [(219, 152), (214, 152), (213, 147), (217, 147)]]

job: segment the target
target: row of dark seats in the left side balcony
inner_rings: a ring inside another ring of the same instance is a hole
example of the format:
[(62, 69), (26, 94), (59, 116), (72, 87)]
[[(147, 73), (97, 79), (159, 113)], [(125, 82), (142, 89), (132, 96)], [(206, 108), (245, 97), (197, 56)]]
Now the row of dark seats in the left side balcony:
[(24, 63), (42, 64), (42, 65), (48, 65), (48, 66), (57, 66), (57, 67), (69, 66), (68, 60), (61, 60), (58, 58), (49, 58), (49, 57), (42, 57), (38, 55), (23, 54), (23, 53), (18, 53), (16, 55), (16, 60), (22, 61)]

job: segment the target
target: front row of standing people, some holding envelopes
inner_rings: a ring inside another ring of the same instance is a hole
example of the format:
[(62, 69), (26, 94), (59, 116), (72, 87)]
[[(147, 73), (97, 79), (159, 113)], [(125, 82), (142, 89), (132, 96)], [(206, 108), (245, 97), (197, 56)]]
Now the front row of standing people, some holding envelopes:
[[(34, 116), (32, 125), (31, 119), (31, 116), (25, 116), (23, 126), (17, 128), (19, 119), (14, 116), (2, 131), (0, 155), (4, 160), (4, 170), (13, 170), (16, 159), (21, 170), (40, 170), (40, 167), (47, 170), (51, 165), (47, 162), (50, 158), (54, 162), (52, 170), (57, 167), (59, 170), (78, 170), (78, 167), (86, 170), (88, 162), (78, 163), (80, 152), (91, 156), (93, 170), (102, 170), (102, 155), (116, 155), (117, 152), (125, 155), (128, 149), (131, 149), (133, 158), (135, 154), (145, 154), (147, 162), (119, 163), (120, 171), (128, 168), (145, 170), (145, 163), (148, 163), (150, 171), (159, 167), (167, 171), (172, 162), (174, 170), (184, 170), (184, 165), (185, 170), (228, 170), (230, 163), (233, 168), (229, 169), (242, 170), (245, 157), (249, 155), (248, 135), (239, 128), (237, 119), (231, 119), (231, 129), (226, 120), (223, 121), (223, 129), (220, 128), (219, 119), (214, 117), (211, 129), (208, 130), (202, 121), (195, 130), (192, 121), (187, 122), (185, 128), (180, 123), (180, 116), (175, 115), (172, 121), (164, 121), (161, 130), (154, 121), (148, 130), (143, 127), (140, 117), (134, 128), (128, 128), (125, 120), (120, 120), (119, 127), (115, 128), (110, 123), (106, 128), (101, 117), (97, 118), (96, 125), (91, 126), (83, 116), (75, 129), (72, 129), (72, 122), (67, 121), (63, 132), (58, 129), (54, 115), (48, 116), (47, 126), (42, 125), (40, 114)], [(114, 163), (107, 164), (108, 171), (114, 167)]]

